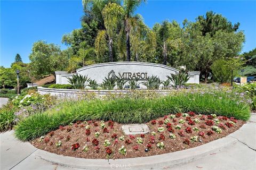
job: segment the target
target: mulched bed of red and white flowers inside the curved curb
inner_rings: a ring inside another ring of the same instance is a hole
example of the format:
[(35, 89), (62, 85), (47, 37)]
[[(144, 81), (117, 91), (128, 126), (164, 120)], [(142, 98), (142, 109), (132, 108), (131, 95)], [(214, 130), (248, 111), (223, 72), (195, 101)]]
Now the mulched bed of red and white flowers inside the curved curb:
[(37, 148), (80, 158), (132, 158), (193, 148), (225, 137), (245, 122), (233, 117), (166, 115), (147, 123), (147, 134), (126, 135), (112, 121), (77, 121), (31, 140)]

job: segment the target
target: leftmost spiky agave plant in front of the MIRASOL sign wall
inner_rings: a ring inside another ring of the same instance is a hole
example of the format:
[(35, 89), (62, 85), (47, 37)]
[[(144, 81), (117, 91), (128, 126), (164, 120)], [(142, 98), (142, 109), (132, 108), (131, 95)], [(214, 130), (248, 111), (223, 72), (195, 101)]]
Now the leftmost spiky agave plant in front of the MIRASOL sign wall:
[(74, 87), (74, 89), (85, 89), (88, 84), (88, 75), (72, 75), (71, 78), (68, 78), (68, 82)]

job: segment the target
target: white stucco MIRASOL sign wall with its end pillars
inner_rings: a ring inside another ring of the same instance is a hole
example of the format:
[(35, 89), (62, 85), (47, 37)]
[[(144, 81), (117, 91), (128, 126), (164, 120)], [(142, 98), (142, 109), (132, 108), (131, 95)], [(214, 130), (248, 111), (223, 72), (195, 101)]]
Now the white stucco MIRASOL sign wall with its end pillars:
[[(67, 73), (65, 71), (55, 71), (57, 84), (69, 84), (68, 79), (75, 74), (88, 75), (92, 80), (101, 83), (103, 79), (113, 77), (114, 75), (125, 80), (137, 79), (138, 83), (147, 80), (148, 77), (156, 75), (161, 80), (166, 80), (167, 75), (178, 73), (178, 69), (173, 67), (142, 62), (113, 62), (101, 63), (82, 67), (76, 70), (76, 73)], [(187, 83), (199, 83), (200, 72), (188, 72), (189, 81)], [(140, 84), (141, 88), (145, 88)]]

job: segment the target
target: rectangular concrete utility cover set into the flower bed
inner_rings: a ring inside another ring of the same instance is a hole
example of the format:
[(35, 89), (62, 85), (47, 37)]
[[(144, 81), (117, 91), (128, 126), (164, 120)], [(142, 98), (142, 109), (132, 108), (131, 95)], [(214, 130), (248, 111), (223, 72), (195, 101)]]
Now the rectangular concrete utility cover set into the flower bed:
[(149, 128), (146, 124), (127, 124), (122, 125), (122, 130), (125, 134), (141, 134), (148, 133)]

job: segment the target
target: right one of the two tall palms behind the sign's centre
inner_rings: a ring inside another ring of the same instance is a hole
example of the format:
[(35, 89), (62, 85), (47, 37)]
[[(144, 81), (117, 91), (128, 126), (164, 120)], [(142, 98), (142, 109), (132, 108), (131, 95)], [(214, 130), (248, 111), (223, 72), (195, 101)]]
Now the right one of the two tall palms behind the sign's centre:
[(134, 12), (137, 7), (140, 6), (142, 2), (146, 0), (124, 0), (123, 1), (123, 9), (124, 9), (124, 17), (123, 17), (123, 24), (124, 24), (124, 31), (126, 34), (126, 61), (131, 61), (131, 46), (130, 46), (130, 30), (132, 27), (132, 23), (134, 20), (137, 20), (137, 17), (134, 16)]

